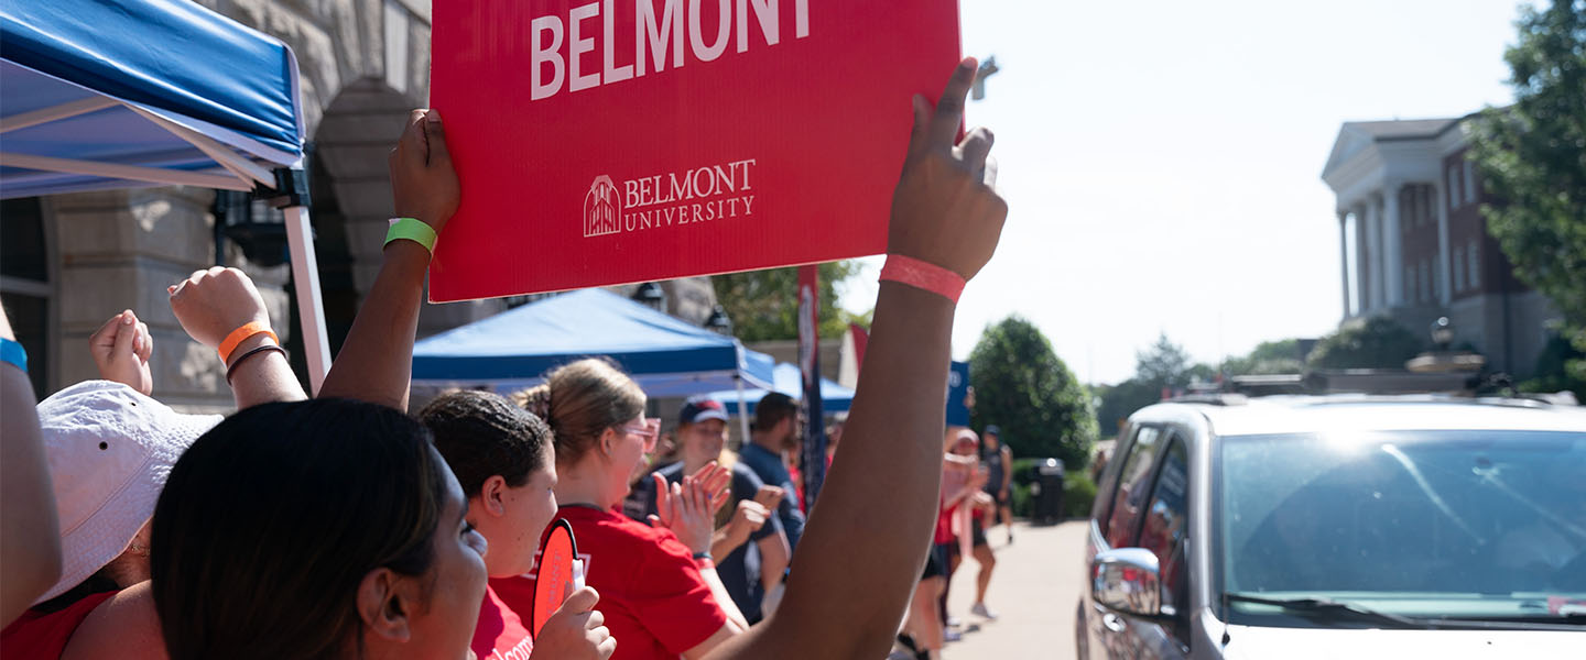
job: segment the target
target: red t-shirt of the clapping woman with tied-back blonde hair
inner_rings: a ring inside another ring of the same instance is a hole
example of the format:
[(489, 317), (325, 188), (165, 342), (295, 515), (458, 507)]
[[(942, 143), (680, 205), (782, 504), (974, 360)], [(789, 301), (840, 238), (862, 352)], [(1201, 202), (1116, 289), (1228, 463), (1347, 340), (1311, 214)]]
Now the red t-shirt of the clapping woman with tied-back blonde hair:
[[(557, 514), (573, 524), (584, 584), (600, 592), (595, 609), (617, 639), (612, 660), (677, 658), (726, 625), (693, 552), (671, 530), (588, 506)], [(533, 616), (533, 573), (492, 579), (490, 587), (509, 608)]]

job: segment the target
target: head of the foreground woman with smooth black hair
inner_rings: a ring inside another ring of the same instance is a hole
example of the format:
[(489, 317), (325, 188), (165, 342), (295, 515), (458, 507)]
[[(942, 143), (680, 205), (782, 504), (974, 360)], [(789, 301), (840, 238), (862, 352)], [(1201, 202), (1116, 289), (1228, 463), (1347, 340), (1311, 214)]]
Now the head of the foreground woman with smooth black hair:
[(419, 423), (354, 400), (266, 404), (200, 437), (154, 508), (173, 660), (463, 658), (485, 540)]

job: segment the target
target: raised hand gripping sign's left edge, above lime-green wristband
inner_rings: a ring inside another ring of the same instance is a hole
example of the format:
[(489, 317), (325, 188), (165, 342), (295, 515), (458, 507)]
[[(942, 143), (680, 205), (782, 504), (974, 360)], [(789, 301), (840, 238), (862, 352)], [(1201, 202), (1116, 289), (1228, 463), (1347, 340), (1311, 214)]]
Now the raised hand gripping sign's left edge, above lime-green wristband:
[(392, 149), (387, 165), (396, 217), (417, 218), (441, 233), (462, 199), (452, 152), (446, 149), (441, 112), (409, 112), (408, 128), (396, 141), (396, 149)]

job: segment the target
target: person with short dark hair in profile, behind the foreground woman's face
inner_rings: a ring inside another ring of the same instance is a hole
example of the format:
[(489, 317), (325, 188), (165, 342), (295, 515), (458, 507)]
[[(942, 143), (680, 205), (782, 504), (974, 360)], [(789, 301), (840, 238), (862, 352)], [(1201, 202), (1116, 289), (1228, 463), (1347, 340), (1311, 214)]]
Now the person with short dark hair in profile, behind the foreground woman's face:
[[(485, 570), (492, 578), (531, 571), (541, 533), (557, 514), (550, 427), (500, 394), (468, 389), (441, 394), (419, 412), (419, 421), (435, 434), (436, 449), (468, 497), (468, 524), (490, 541)], [(519, 613), (487, 587), (474, 628), (474, 655), (611, 657), (617, 641), (603, 625), (604, 616), (592, 609), (598, 600), (595, 589), (579, 589), (530, 638)]]

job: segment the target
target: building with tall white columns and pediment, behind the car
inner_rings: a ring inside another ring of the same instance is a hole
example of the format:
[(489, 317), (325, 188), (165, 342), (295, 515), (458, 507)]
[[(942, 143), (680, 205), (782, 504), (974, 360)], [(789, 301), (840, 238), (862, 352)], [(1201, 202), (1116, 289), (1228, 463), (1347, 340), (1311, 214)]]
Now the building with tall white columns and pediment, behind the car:
[(1492, 199), (1467, 155), (1470, 116), (1347, 122), (1323, 180), (1337, 195), (1343, 321), (1386, 315), (1424, 336), (1439, 317), (1492, 370), (1527, 378), (1559, 318), (1486, 231)]

